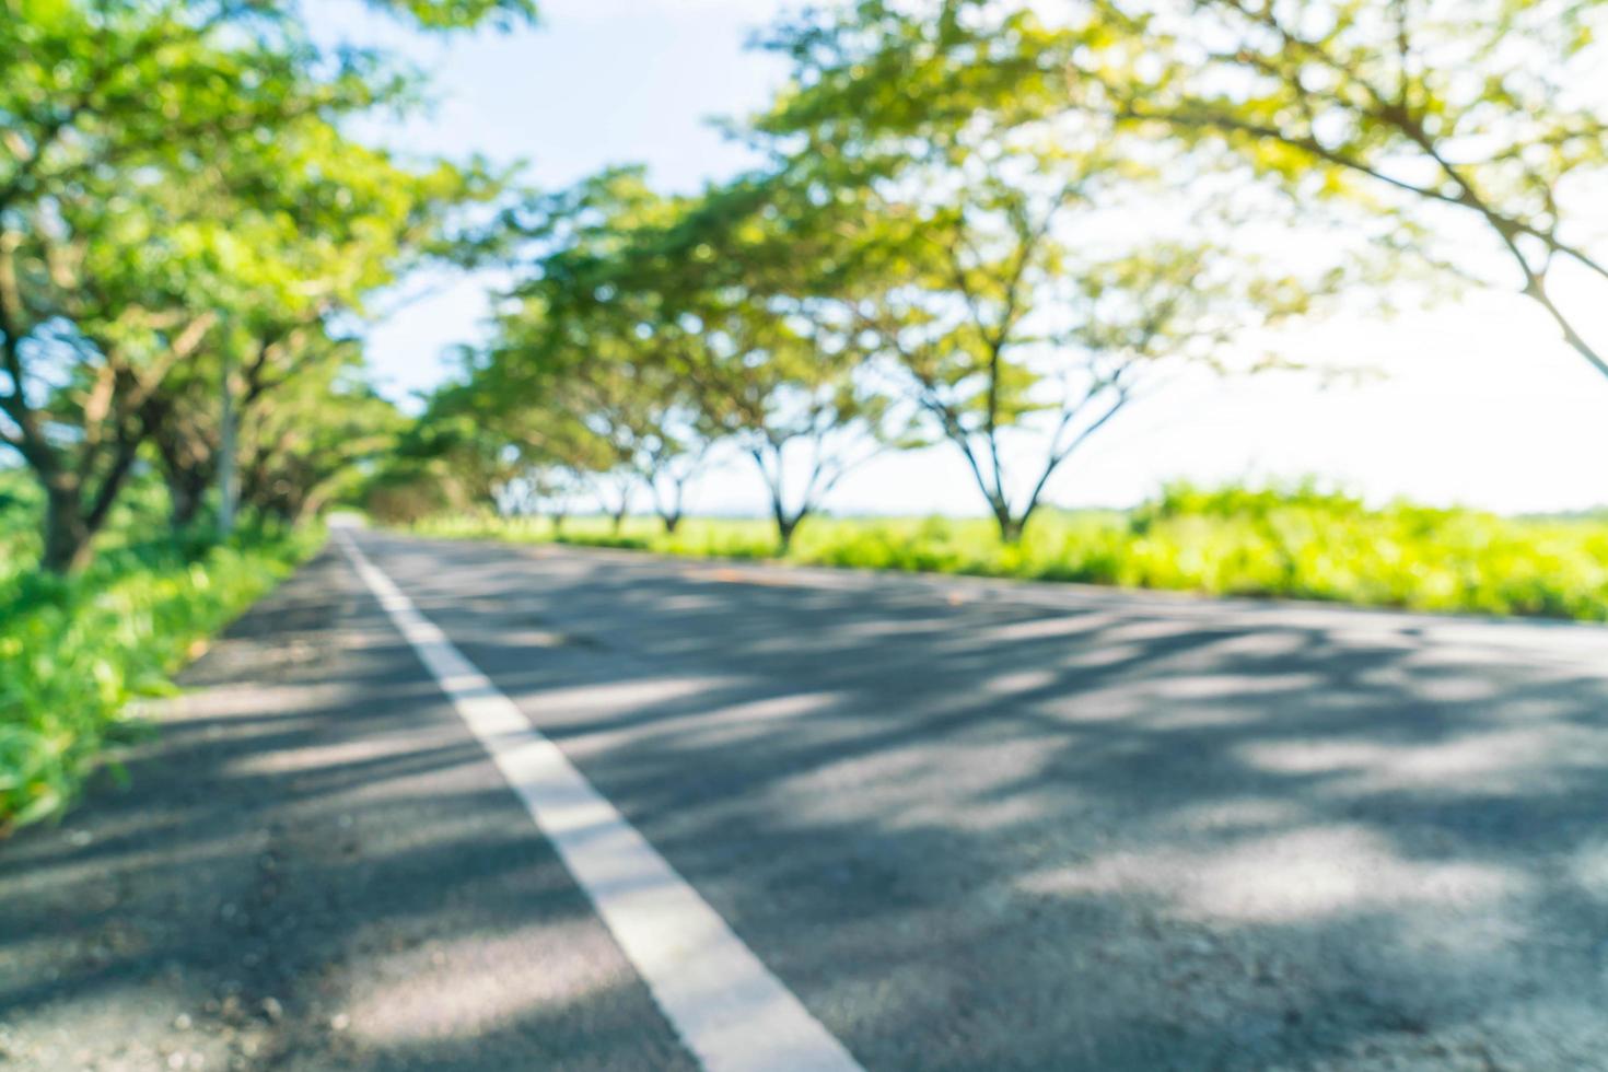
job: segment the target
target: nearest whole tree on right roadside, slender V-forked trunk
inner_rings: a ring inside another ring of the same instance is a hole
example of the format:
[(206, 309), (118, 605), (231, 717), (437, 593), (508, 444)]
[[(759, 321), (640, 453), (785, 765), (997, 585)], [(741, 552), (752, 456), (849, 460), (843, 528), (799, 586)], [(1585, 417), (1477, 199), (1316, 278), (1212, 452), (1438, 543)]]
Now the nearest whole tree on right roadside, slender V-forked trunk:
[[(804, 301), (872, 342), (1015, 543), (1158, 370), (1227, 365), (1230, 342), (1304, 312), (1323, 281), (1209, 241), (1201, 222), (1220, 212), (1163, 182), (1175, 159), (1156, 146), (1018, 93), (1031, 16), (937, 10), (860, 3), (785, 26), (770, 47), (794, 59), (793, 85), (754, 129), (783, 161), (793, 257), (814, 257)], [(1140, 214), (1135, 238), (1119, 223)]]

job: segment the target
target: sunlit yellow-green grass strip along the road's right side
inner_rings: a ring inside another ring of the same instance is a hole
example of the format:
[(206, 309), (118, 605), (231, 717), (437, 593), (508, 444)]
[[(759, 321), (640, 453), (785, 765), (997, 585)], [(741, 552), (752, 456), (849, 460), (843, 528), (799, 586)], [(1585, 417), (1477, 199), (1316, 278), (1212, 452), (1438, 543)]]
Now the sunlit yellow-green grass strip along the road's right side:
[[(437, 518), (434, 537), (550, 542), (547, 521)], [(770, 558), (762, 521), (696, 518), (674, 537), (654, 519), (619, 535), (571, 519), (564, 542), (664, 554)], [(807, 521), (786, 561), (1209, 595), (1328, 599), (1415, 611), (1608, 620), (1608, 519), (1515, 519), (1393, 503), (1370, 509), (1312, 485), (1169, 487), (1129, 511), (1045, 513), (1019, 546), (982, 519)]]

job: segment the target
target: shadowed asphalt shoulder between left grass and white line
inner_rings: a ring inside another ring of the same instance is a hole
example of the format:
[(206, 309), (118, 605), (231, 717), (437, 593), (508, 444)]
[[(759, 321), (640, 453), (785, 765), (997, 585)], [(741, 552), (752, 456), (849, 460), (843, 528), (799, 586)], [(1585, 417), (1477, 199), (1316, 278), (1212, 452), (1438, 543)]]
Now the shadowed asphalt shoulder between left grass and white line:
[(338, 558), (183, 683), (0, 850), (0, 1066), (691, 1067)]

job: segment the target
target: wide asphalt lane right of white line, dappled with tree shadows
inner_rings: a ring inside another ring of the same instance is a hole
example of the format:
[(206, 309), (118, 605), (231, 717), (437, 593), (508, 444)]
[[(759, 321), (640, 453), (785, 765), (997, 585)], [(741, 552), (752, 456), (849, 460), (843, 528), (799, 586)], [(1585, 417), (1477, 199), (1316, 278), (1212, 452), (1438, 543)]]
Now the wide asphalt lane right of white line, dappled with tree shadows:
[(1608, 636), (376, 543), (868, 1067), (1608, 1067)]

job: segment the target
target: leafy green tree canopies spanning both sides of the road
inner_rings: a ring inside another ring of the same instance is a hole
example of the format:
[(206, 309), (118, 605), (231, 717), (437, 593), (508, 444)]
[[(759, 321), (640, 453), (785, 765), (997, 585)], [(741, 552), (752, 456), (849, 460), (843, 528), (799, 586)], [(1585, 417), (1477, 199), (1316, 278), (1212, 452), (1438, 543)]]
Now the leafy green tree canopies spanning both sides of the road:
[[(532, 0), (371, 0), (416, 32)], [(1338, 307), (1608, 284), (1605, 8), (1587, 0), (846, 0), (777, 19), (757, 164), (529, 191), (352, 132), (420, 72), (297, 0), (0, 0), (0, 447), (74, 569), (130, 474), (178, 529), (238, 463), (294, 521), (367, 482), (674, 529), (753, 466), (783, 545), (867, 460), (954, 452), (1010, 542), (1182, 368), (1283, 365)], [(490, 336), (405, 421), (378, 294), (497, 260)], [(1409, 286), (1412, 284), (1412, 286)], [(227, 399), (228, 405), (222, 405)], [(219, 503), (222, 506), (222, 503)]]

